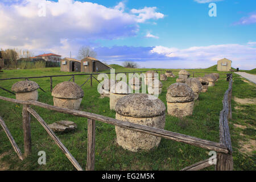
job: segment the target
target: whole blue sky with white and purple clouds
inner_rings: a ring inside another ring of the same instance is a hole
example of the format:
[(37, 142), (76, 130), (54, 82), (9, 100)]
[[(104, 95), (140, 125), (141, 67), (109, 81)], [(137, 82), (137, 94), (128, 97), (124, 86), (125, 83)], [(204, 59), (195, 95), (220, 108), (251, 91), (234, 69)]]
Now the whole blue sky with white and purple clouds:
[(0, 0), (0, 17), (0, 48), (35, 56), (90, 46), (108, 64), (256, 68), (255, 0)]

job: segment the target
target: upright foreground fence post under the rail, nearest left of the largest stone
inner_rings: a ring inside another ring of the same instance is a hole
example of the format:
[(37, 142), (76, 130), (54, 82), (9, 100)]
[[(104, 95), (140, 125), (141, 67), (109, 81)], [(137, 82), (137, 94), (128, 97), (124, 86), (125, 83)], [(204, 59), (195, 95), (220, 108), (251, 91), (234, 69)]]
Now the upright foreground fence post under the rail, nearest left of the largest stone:
[(88, 144), (87, 144), (87, 162), (86, 162), (86, 171), (94, 170), (95, 163), (95, 121), (93, 119), (88, 119)]

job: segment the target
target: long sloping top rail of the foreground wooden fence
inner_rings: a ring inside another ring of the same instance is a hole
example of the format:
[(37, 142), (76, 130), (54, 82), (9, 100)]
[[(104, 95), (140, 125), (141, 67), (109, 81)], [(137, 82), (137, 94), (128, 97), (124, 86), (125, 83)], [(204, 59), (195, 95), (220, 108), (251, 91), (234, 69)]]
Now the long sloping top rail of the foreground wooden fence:
[(191, 137), (191, 136), (183, 135), (183, 134), (179, 134), (179, 133), (174, 133), (172, 131), (162, 130), (162, 129), (158, 129), (158, 128), (150, 127), (150, 126), (138, 125), (138, 124), (130, 123), (130, 122), (124, 122), (124, 121), (120, 121), (118, 119), (105, 117), (103, 115), (88, 113), (86, 111), (65, 109), (65, 108), (61, 108), (61, 107), (57, 107), (57, 106), (44, 104), (44, 103), (38, 102), (38, 101), (19, 101), (19, 100), (15, 100), (13, 98), (7, 98), (7, 97), (2, 97), (2, 96), (0, 96), (0, 100), (9, 101), (9, 102), (13, 102), (16, 104), (39, 106), (39, 107), (43, 107), (44, 109), (57, 111), (59, 113), (71, 114), (71, 115), (75, 115), (78, 117), (94, 119), (94, 120), (101, 121), (104, 123), (109, 123), (110, 125), (123, 127), (125, 129), (130, 129), (133, 131), (138, 131), (141, 133), (154, 135), (156, 137), (171, 139), (171, 140), (175, 140), (177, 142), (183, 142), (183, 143), (191, 144), (193, 146), (197, 146), (197, 147), (205, 148), (208, 150), (214, 150), (214, 151), (222, 152), (224, 154), (228, 154), (228, 148), (226, 148), (224, 146), (224, 144), (211, 142), (209, 140)]

